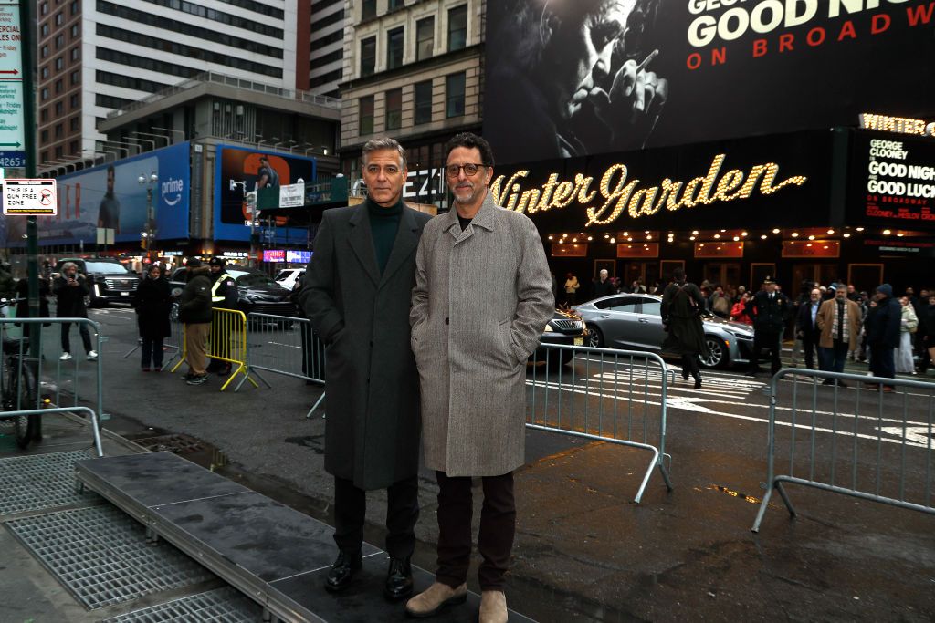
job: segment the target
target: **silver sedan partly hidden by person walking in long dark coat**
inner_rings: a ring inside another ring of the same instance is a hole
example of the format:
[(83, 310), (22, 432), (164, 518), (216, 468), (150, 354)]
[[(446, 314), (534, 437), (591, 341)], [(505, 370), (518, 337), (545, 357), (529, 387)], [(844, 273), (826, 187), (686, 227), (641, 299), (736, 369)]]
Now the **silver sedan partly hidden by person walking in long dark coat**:
[[(613, 294), (574, 307), (588, 329), (589, 346), (649, 350), (662, 353), (666, 332), (660, 312), (662, 297), (654, 294)], [(705, 313), (701, 324), (710, 354), (700, 358), (705, 367), (748, 363), (754, 352), (749, 325)]]

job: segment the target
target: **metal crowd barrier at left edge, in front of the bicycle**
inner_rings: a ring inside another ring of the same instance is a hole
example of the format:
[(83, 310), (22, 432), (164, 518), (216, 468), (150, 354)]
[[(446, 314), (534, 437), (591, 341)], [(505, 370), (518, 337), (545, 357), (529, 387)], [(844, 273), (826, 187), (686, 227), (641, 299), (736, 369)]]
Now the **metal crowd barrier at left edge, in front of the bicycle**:
[[(68, 325), (72, 357), (62, 361), (62, 326), (65, 324)], [(86, 354), (79, 355), (83, 352), (82, 325), (87, 327), (92, 349), (98, 353), (94, 361), (87, 361)], [(103, 457), (98, 417), (104, 409), (100, 353), (105, 338), (100, 333), (100, 325), (86, 318), (0, 318), (0, 337), (3, 343), (0, 419), (29, 418), (30, 432), (33, 439), (37, 439), (42, 434), (42, 416), (84, 414), (91, 421), (97, 456)], [(32, 340), (38, 341), (37, 358), (32, 356)], [(14, 383), (18, 383), (21, 389), (16, 396), (9, 392)], [(81, 401), (92, 406), (79, 404)], [(66, 406), (66, 403), (70, 404)]]

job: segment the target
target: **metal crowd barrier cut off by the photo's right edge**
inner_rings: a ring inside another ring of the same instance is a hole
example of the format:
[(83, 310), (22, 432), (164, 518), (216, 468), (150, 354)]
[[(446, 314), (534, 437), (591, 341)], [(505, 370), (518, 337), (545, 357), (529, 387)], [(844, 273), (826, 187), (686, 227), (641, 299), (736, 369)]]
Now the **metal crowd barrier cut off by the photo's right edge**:
[[(770, 381), (767, 492), (752, 530), (759, 531), (773, 490), (796, 516), (784, 483), (935, 514), (933, 411), (932, 383), (780, 370)], [(786, 455), (782, 474), (777, 458)]]

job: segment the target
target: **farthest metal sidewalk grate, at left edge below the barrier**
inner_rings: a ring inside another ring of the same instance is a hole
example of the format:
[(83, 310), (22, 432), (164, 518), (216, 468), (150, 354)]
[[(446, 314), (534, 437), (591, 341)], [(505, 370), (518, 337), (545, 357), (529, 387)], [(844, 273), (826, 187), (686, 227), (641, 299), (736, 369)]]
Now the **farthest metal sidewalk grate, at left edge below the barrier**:
[(75, 492), (75, 462), (87, 452), (52, 452), (0, 460), (0, 517), (78, 503), (99, 502), (96, 493)]

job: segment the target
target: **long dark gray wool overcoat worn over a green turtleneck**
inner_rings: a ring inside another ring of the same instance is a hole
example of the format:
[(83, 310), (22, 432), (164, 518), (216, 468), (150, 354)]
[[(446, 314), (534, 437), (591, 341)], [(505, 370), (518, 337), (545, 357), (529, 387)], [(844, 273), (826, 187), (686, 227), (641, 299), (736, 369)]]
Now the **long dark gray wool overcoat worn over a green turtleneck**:
[(327, 345), (324, 469), (365, 490), (419, 470), (419, 375), (409, 313), (415, 251), (429, 218), (403, 208), (381, 276), (367, 204), (326, 210), (299, 295)]

